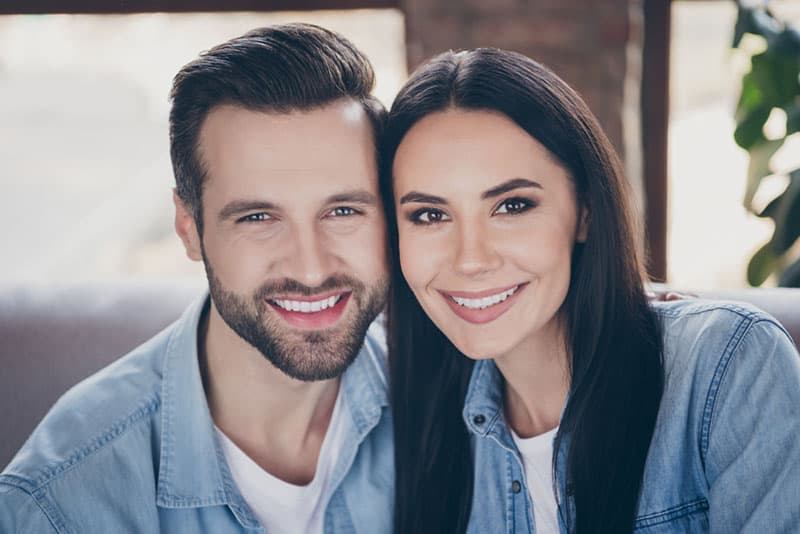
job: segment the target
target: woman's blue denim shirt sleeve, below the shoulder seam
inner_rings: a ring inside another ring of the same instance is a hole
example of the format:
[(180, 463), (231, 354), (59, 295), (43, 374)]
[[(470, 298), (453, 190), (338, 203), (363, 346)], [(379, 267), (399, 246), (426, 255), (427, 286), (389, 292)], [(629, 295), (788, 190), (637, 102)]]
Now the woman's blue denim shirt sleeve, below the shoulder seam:
[(800, 356), (789, 335), (757, 319), (711, 392), (701, 443), (711, 532), (798, 532)]

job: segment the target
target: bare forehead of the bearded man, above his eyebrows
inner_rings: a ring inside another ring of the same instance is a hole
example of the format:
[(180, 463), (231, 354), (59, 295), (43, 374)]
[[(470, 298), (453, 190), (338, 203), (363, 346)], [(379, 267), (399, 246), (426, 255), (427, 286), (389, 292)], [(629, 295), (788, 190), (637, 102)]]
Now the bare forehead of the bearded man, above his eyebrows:
[(372, 128), (357, 102), (273, 114), (220, 106), (201, 131), (206, 188), (247, 194), (269, 188), (313, 196), (377, 188)]

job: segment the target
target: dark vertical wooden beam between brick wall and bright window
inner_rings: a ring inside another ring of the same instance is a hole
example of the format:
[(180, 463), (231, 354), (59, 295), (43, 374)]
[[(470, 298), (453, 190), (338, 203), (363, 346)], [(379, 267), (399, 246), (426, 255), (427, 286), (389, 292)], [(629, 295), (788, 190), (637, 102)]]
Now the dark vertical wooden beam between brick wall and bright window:
[(669, 128), (670, 0), (644, 0), (642, 150), (647, 203), (647, 269), (667, 279), (667, 131)]

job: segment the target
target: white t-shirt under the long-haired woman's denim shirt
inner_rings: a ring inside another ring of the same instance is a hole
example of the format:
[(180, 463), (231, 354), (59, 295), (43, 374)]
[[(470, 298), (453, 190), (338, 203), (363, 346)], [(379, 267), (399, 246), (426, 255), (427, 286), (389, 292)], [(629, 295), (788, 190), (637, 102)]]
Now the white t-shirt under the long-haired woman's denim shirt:
[(533, 502), (536, 534), (559, 532), (558, 505), (553, 493), (553, 438), (556, 437), (556, 432), (558, 427), (523, 439), (511, 430), (525, 467), (525, 481)]

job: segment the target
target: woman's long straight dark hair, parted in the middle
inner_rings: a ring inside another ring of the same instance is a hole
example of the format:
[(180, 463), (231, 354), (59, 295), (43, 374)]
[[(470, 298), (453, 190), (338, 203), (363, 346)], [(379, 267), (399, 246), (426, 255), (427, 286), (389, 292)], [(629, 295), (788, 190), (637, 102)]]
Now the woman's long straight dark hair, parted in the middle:
[(489, 48), (446, 52), (414, 72), (392, 105), (382, 144), (392, 269), (395, 531), (463, 532), (472, 507), (473, 459), (461, 412), (473, 362), (434, 326), (403, 279), (392, 190), (392, 162), (403, 137), (423, 117), (448, 109), (504, 114), (573, 177), (588, 232), (575, 245), (561, 309), (571, 385), (554, 451), (568, 436), (569, 530), (631, 531), (663, 369), (627, 186), (610, 142), (575, 91), (532, 59)]

